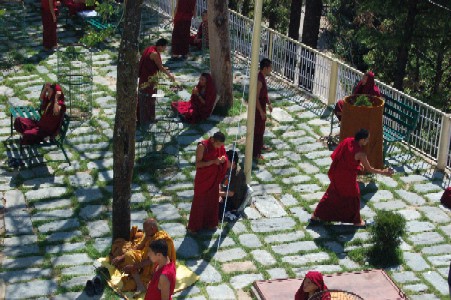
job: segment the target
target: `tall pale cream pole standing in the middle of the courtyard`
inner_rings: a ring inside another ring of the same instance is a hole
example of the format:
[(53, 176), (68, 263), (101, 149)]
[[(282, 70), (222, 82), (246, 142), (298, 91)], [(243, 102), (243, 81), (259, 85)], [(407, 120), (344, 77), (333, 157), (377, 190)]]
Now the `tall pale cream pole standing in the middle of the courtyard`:
[(247, 184), (251, 182), (252, 176), (252, 151), (254, 147), (255, 107), (257, 102), (257, 76), (263, 6), (262, 2), (263, 0), (255, 0), (254, 6), (254, 30), (252, 34), (251, 72), (249, 78), (249, 101), (247, 102), (247, 131), (244, 162), (244, 174), (246, 175)]

